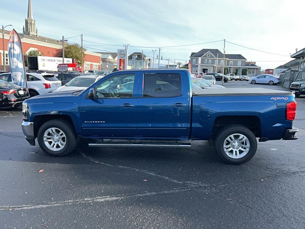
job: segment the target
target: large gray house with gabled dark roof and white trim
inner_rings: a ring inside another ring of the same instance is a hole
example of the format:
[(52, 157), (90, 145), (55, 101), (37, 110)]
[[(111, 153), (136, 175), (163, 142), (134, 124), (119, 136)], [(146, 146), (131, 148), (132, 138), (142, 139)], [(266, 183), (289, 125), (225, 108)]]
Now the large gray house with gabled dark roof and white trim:
[[(224, 74), (234, 73), (235, 75), (249, 76), (260, 74), (260, 67), (253, 62), (246, 63), (247, 59), (241, 54), (225, 54), (224, 56), (218, 49), (201, 49), (197, 53), (191, 53), (190, 59), (192, 72), (222, 73), (224, 64)], [(199, 60), (201, 60), (201, 63), (198, 70)]]

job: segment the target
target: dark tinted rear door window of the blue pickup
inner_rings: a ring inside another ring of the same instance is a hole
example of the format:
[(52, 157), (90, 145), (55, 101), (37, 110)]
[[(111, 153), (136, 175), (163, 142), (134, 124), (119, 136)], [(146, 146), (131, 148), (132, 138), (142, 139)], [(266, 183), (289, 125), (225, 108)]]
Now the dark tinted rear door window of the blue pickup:
[(146, 73), (143, 76), (143, 97), (181, 96), (181, 75), (178, 73)]

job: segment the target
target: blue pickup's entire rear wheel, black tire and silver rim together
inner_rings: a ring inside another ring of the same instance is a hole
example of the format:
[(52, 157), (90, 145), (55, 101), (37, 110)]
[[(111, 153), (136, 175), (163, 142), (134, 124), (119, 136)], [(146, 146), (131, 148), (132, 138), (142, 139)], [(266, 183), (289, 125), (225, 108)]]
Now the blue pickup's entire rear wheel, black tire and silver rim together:
[(257, 150), (254, 133), (243, 125), (229, 125), (222, 128), (214, 144), (219, 157), (235, 165), (248, 162)]

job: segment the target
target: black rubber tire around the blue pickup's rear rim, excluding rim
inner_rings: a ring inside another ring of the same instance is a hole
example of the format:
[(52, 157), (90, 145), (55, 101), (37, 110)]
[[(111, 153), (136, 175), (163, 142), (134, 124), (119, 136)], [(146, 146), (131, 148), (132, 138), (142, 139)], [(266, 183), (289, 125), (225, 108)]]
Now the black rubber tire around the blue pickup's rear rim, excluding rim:
[[(242, 158), (231, 158), (224, 152), (224, 142), (228, 136), (231, 134), (242, 134), (246, 136), (250, 143), (250, 149), (248, 153)], [(215, 149), (219, 157), (229, 164), (240, 165), (248, 162), (256, 153), (257, 150), (257, 140), (255, 135), (251, 130), (243, 125), (228, 125), (222, 128), (216, 136), (214, 142)]]

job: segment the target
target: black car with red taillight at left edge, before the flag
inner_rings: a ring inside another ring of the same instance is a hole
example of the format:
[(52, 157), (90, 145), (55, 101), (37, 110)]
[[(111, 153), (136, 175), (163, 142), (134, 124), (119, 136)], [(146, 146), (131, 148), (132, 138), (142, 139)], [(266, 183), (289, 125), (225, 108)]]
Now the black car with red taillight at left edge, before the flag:
[(0, 108), (18, 107), (27, 98), (29, 95), (25, 88), (0, 79)]

